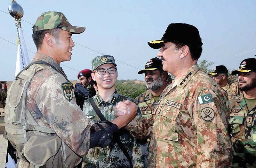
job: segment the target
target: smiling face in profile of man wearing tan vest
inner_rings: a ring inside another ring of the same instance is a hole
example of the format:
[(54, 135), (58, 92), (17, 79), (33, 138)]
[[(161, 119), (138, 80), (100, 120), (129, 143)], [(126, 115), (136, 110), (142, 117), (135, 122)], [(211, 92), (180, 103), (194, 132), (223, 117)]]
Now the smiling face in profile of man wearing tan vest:
[(72, 47), (75, 46), (71, 36), (72, 34), (70, 32), (60, 29), (58, 35), (59, 38), (54, 38), (53, 54), (59, 64), (60, 62), (71, 60)]

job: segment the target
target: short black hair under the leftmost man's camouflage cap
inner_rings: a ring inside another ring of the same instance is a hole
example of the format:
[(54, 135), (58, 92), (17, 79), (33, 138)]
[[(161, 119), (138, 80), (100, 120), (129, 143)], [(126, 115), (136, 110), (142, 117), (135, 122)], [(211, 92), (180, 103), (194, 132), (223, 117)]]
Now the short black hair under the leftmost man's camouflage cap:
[(60, 32), (60, 29), (48, 29), (48, 30), (40, 30), (40, 31), (36, 31), (32, 34), (32, 38), (33, 38), (33, 41), (36, 45), (36, 49), (38, 50), (42, 44), (43, 44), (43, 39), (44, 39), (44, 35), (46, 33), (49, 33), (51, 35), (54, 36), (55, 39), (59, 39), (59, 32)]

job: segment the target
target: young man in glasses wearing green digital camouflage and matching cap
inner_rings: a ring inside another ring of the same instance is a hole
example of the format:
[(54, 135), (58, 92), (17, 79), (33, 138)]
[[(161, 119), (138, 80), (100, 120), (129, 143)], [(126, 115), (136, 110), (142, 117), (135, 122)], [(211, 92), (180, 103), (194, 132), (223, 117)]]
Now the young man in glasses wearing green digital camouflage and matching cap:
[[(113, 120), (115, 117), (112, 108), (119, 101), (130, 100), (129, 97), (119, 94), (115, 89), (117, 81), (117, 70), (115, 59), (109, 55), (98, 56), (92, 60), (92, 79), (97, 82), (98, 91), (93, 96), (93, 101), (100, 109), (100, 112), (107, 120)], [(135, 101), (134, 101), (135, 102)], [(100, 122), (100, 118), (92, 108), (92, 104), (89, 100), (84, 102), (83, 109), (87, 118), (92, 119), (93, 122)], [(138, 108), (137, 115), (141, 116)], [(124, 144), (125, 150), (128, 151), (130, 158), (132, 155), (136, 155), (136, 159), (133, 162), (133, 167), (143, 168), (144, 160), (141, 157), (144, 155), (137, 148), (133, 149), (134, 138), (125, 129), (120, 130), (119, 134), (121, 142)], [(137, 145), (139, 148), (140, 145)], [(136, 152), (136, 153), (135, 153)], [(89, 150), (86, 157), (83, 159), (82, 167), (130, 167), (127, 157), (124, 155), (120, 146), (115, 142), (113, 145), (105, 148), (92, 148)]]

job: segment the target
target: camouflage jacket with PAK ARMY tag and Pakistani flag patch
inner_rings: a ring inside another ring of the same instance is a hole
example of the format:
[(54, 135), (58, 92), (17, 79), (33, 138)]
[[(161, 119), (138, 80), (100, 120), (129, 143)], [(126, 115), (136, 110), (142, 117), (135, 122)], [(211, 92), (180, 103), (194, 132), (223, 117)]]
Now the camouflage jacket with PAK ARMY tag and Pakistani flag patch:
[(148, 167), (230, 167), (227, 93), (197, 64), (174, 83), (150, 119), (135, 117), (126, 126), (137, 138), (152, 133)]

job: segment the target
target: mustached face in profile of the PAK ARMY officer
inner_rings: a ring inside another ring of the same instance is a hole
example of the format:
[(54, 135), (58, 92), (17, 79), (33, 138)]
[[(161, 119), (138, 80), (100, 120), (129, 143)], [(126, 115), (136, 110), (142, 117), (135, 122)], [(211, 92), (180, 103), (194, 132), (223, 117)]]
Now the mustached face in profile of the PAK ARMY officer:
[(180, 54), (179, 51), (175, 49), (175, 44), (172, 42), (164, 43), (157, 53), (157, 57), (163, 60), (162, 64), (164, 71), (175, 74), (174, 72), (179, 69)]

